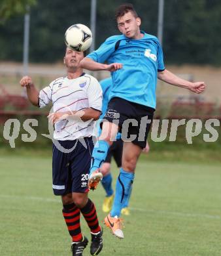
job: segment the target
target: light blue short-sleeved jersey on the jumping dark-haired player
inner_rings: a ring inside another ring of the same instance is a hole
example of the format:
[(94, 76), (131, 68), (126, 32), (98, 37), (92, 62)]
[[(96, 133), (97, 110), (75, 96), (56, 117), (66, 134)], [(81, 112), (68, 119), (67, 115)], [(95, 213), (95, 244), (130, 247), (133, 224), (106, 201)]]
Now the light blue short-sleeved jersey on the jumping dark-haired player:
[(88, 54), (95, 62), (118, 62), (123, 68), (112, 72), (110, 98), (116, 96), (151, 108), (156, 108), (158, 71), (165, 70), (163, 51), (154, 35), (143, 33), (141, 39), (125, 35), (109, 37), (96, 51)]

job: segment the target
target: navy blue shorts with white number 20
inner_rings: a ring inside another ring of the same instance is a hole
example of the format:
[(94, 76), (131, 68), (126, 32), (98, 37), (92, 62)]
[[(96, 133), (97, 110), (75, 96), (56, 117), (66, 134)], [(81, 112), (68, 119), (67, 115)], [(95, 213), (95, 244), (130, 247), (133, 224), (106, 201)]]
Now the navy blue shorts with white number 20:
[(59, 144), (71, 152), (61, 152), (53, 144), (52, 177), (54, 194), (64, 196), (71, 192), (88, 192), (88, 177), (92, 160), (92, 137), (84, 138), (86, 147), (80, 141), (59, 140)]

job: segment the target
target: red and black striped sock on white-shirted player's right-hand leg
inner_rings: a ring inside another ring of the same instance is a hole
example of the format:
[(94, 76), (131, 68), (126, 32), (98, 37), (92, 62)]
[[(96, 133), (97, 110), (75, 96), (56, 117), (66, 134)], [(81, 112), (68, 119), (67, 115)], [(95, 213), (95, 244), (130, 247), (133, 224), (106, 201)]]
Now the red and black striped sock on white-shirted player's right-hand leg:
[(99, 222), (97, 219), (97, 212), (93, 202), (88, 198), (88, 203), (80, 209), (84, 219), (88, 223), (90, 231), (92, 233), (97, 233), (101, 231), (101, 227), (99, 226)]

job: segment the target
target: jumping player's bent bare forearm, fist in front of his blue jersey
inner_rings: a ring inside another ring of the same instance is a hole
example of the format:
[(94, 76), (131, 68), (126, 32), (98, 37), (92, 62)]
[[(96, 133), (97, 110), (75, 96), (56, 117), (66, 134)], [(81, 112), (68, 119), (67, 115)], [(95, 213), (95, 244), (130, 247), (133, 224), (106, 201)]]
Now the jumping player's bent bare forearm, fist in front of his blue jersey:
[(114, 72), (114, 71), (122, 68), (122, 64), (121, 63), (112, 63), (112, 64), (107, 65), (107, 64), (95, 62), (91, 58), (85, 57), (80, 61), (80, 67), (86, 68), (86, 70), (92, 70), (92, 71), (107, 70), (109, 72)]

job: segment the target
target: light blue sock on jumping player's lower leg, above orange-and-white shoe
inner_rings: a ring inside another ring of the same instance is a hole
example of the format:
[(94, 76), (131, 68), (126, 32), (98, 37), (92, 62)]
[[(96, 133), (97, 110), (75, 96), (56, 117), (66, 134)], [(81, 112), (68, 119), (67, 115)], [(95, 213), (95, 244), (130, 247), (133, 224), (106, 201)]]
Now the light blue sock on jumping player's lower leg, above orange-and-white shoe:
[(129, 200), (129, 195), (131, 192), (131, 185), (133, 184), (134, 173), (128, 173), (122, 168), (120, 169), (120, 174), (116, 181), (116, 191), (114, 204), (112, 210), (110, 211), (110, 216), (120, 216), (120, 211), (124, 207), (125, 203)]

